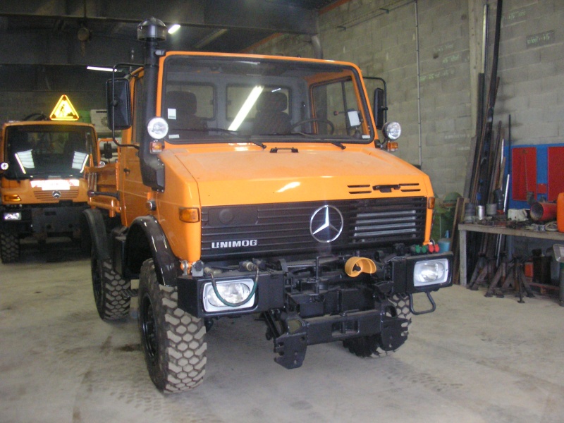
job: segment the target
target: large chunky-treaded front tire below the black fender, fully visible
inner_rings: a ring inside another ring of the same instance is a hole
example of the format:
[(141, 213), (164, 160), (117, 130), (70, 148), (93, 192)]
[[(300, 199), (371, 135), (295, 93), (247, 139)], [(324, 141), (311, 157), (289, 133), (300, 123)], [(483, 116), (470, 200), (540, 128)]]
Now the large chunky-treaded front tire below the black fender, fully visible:
[(178, 308), (176, 288), (159, 284), (152, 259), (141, 267), (138, 312), (147, 370), (159, 391), (189, 391), (202, 384), (207, 360), (204, 321)]

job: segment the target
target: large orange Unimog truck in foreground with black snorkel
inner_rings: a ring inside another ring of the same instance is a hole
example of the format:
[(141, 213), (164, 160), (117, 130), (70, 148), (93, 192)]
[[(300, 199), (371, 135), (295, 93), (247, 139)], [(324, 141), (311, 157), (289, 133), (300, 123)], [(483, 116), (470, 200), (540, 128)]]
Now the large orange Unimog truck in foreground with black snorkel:
[[(107, 85), (118, 159), (87, 169), (100, 317), (124, 317), (138, 296), (164, 392), (202, 383), (221, 317), (259, 316), (288, 369), (319, 343), (361, 357), (399, 348), (411, 315), (434, 311), (429, 293), (451, 285), (452, 253), (420, 254), (431, 183), (386, 151), (397, 123), (378, 139), (360, 70), (164, 51), (165, 35), (154, 18), (137, 28), (145, 65)], [(429, 307), (414, 310), (415, 293)]]

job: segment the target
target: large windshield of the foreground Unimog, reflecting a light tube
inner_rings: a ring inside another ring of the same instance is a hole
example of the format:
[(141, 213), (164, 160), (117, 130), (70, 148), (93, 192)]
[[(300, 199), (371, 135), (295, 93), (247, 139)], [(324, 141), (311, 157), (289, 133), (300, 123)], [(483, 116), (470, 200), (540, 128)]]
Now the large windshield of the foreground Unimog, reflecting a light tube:
[(330, 62), (170, 56), (161, 104), (170, 142), (374, 138), (360, 75)]

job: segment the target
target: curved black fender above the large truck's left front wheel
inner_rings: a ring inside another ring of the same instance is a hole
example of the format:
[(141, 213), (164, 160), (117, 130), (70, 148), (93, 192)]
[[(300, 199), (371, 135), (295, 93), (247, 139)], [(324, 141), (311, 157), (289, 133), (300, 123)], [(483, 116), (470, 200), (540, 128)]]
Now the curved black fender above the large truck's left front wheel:
[(131, 223), (125, 240), (124, 262), (139, 274), (142, 262), (152, 258), (161, 285), (176, 286), (178, 259), (171, 251), (161, 225), (153, 216), (139, 216)]

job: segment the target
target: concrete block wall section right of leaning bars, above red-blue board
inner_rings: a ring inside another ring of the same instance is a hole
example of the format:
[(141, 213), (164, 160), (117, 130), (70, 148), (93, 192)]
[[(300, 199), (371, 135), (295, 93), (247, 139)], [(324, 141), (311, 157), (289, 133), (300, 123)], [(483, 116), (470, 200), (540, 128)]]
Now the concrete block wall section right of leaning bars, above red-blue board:
[(511, 115), (513, 145), (564, 142), (563, 22), (564, 1), (503, 2), (494, 122)]

